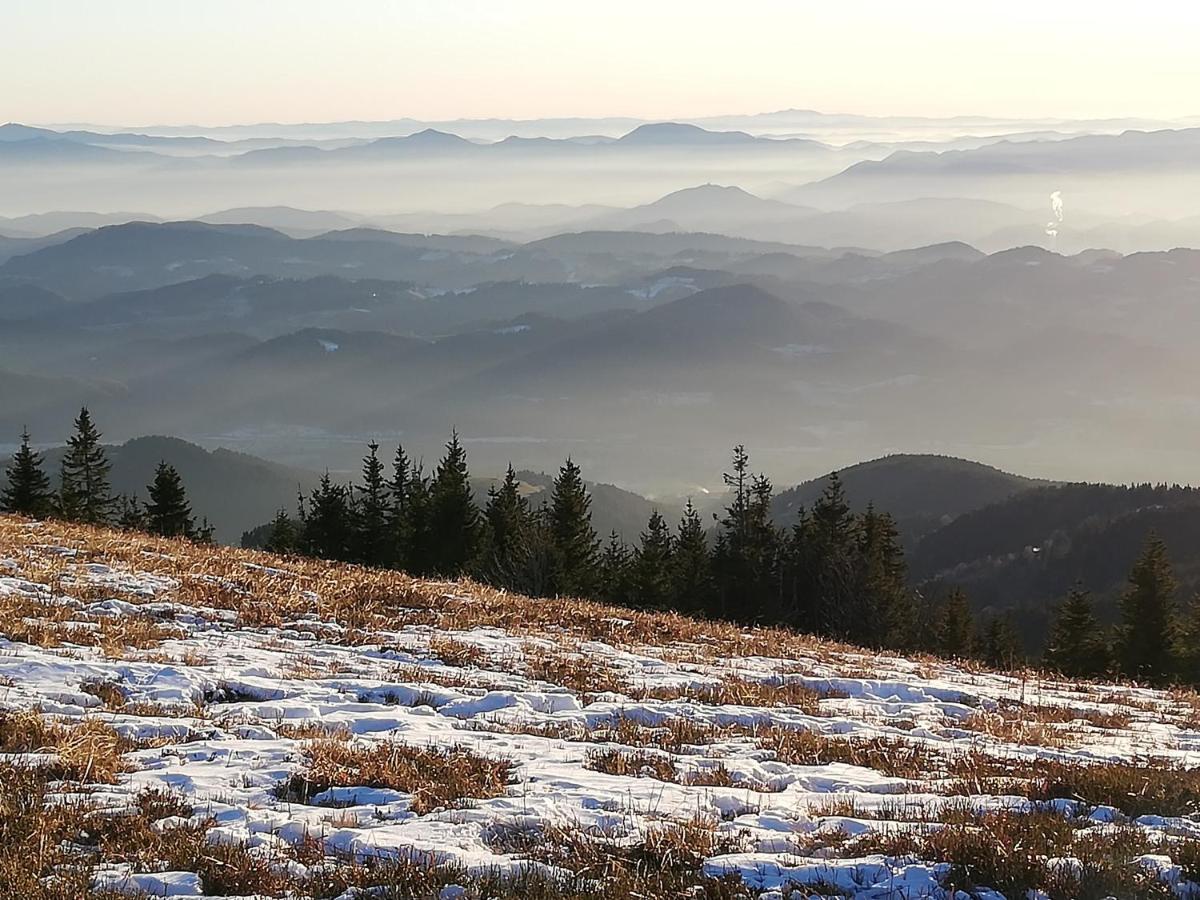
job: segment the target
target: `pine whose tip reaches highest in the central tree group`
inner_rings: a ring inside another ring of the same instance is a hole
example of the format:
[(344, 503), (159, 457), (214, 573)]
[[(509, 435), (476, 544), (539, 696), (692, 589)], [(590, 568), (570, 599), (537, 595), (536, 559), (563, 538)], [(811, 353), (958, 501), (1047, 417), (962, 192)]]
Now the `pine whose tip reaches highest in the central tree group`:
[(467, 571), (480, 552), (480, 517), (470, 490), (467, 451), (458, 432), (450, 433), (446, 454), (430, 486), (430, 568), (437, 575)]

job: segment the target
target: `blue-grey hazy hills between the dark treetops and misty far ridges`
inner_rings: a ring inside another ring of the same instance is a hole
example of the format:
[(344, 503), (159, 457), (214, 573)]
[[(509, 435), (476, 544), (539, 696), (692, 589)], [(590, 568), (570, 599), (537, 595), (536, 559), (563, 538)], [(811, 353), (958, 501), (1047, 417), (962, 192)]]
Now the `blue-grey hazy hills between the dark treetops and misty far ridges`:
[[(710, 200), (779, 209), (710, 186), (664, 205)], [(1156, 454), (1192, 440), (1198, 277), (1195, 251), (109, 226), (0, 265), (0, 427), (61, 437), (89, 397), (114, 436), (229, 436), (340, 468), (338, 436), (434, 452), (458, 424), (491, 469), (506, 442), (546, 470), (588, 448), (599, 478), (637, 461), (654, 493), (719, 473), (714, 434), (792, 478), (895, 446), (1062, 472), (1044, 461), (1086, 440), (1108, 462), (1080, 475), (1103, 478), (1151, 468), (1141, 434), (1170, 436)], [(1153, 468), (1186, 472), (1182, 455)]]

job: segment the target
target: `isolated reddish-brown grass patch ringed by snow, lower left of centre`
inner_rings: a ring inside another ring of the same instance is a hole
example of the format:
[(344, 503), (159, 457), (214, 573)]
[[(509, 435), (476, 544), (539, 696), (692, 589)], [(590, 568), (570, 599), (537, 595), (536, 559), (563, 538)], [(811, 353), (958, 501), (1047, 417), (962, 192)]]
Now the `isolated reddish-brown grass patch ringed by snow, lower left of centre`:
[(278, 797), (310, 803), (331, 787), (386, 787), (413, 796), (419, 816), (473, 799), (503, 797), (514, 766), (466, 748), (416, 748), (395, 742), (359, 744), (320, 738), (305, 746), (306, 768), (278, 788)]

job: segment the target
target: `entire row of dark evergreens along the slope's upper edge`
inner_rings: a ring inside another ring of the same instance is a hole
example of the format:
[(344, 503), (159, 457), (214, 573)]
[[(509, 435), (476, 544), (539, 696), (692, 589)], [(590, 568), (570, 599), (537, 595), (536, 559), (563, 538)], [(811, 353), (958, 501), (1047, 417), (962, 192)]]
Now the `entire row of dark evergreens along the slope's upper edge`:
[[(211, 528), (196, 524), (182, 480), (167, 462), (160, 462), (144, 505), (114, 496), (100, 439), (82, 409), (53, 490), (24, 433), (0, 509), (211, 540)], [(299, 496), (295, 516), (278, 510), (264, 547), (414, 575), (469, 576), (533, 598), (582, 596), (779, 624), (997, 667), (1027, 661), (1013, 623), (977, 620), (961, 589), (938, 599), (914, 590), (894, 520), (872, 506), (852, 511), (836, 473), (786, 528), (773, 521), (772, 482), (751, 472), (744, 446), (733, 449), (724, 481), (727, 505), (712, 522), (689, 500), (674, 527), (654, 511), (630, 546), (616, 532), (604, 541), (596, 535), (582, 472), (570, 458), (540, 508), (530, 505), (511, 464), (480, 506), (456, 432), (430, 473), (403, 446), (389, 467), (372, 442), (358, 481), (342, 484), (326, 472)], [(1087, 593), (1073, 589), (1056, 612), (1044, 662), (1072, 677), (1200, 683), (1200, 599), (1180, 610), (1176, 589), (1166, 548), (1151, 535), (1129, 575), (1121, 623), (1103, 626)]]

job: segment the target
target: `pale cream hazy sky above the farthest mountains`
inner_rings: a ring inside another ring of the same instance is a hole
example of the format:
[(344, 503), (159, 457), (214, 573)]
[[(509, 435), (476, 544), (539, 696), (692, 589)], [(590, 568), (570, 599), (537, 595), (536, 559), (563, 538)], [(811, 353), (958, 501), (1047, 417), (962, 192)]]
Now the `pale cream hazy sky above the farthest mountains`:
[(0, 121), (1200, 114), (1183, 0), (4, 0)]

